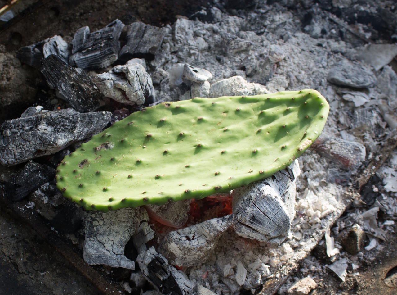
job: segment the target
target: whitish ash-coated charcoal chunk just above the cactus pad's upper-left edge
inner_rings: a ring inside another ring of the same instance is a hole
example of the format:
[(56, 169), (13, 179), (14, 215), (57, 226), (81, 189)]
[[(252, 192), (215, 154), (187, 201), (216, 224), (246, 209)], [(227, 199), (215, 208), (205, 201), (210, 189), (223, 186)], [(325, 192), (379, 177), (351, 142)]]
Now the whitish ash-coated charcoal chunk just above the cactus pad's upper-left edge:
[(107, 73), (94, 76), (103, 95), (126, 105), (154, 103), (155, 92), (150, 75), (138, 63), (115, 66)]

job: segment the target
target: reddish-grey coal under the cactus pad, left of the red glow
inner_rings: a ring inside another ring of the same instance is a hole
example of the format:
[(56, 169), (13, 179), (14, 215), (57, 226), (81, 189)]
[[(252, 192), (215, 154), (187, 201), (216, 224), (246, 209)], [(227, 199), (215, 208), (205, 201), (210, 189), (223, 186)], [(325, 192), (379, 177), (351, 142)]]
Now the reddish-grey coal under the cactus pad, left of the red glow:
[(151, 220), (156, 220), (169, 227), (182, 227), (188, 217), (191, 200), (181, 200), (178, 202), (168, 202), (163, 205), (145, 205)]

